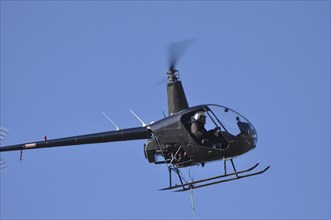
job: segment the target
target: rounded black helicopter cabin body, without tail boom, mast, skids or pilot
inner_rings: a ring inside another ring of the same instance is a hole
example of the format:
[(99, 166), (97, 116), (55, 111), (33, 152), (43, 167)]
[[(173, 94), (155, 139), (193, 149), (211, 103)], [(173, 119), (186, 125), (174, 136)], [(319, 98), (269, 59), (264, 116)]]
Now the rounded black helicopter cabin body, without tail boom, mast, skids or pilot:
[[(206, 128), (220, 132), (219, 141), (200, 143), (191, 132), (192, 117), (204, 111)], [(145, 156), (151, 163), (173, 163), (179, 166), (206, 163), (237, 157), (256, 146), (254, 126), (242, 115), (220, 105), (199, 105), (184, 109), (148, 126), (153, 139), (145, 145)], [(158, 158), (163, 157), (163, 161)]]

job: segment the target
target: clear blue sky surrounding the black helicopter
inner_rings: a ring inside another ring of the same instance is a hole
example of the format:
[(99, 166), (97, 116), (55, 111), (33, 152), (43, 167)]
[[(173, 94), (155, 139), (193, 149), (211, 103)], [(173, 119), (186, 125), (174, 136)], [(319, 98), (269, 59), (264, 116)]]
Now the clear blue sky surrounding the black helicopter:
[[(101, 111), (120, 128), (140, 125), (129, 108), (160, 119), (166, 47), (188, 38), (189, 104), (243, 114), (259, 140), (237, 168), (271, 165), (195, 190), (196, 218), (330, 219), (330, 1), (1, 1), (1, 145), (113, 130)], [(192, 218), (143, 144), (2, 153), (0, 218)]]

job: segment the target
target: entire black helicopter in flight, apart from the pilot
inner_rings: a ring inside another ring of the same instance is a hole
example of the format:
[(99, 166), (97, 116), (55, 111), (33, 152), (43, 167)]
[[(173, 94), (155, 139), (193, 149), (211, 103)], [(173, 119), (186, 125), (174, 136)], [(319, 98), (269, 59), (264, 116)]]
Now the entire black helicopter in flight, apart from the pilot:
[[(177, 43), (178, 45), (178, 43)], [(181, 45), (181, 43), (179, 43)], [(105, 143), (147, 139), (144, 145), (145, 157), (150, 163), (166, 164), (169, 172), (169, 186), (161, 190), (186, 191), (222, 182), (237, 180), (262, 174), (270, 166), (258, 172), (251, 172), (259, 164), (237, 171), (233, 158), (255, 149), (257, 133), (254, 126), (238, 112), (221, 105), (206, 104), (189, 107), (179, 72), (175, 69), (178, 60), (178, 47), (173, 47), (170, 67), (167, 71), (168, 116), (142, 127), (116, 129), (94, 134), (59, 138), (53, 140), (28, 142), (0, 147), (0, 152), (22, 151), (30, 149), (72, 146), (81, 144)], [(180, 49), (182, 50), (182, 49)], [(177, 55), (176, 55), (177, 54)], [(208, 121), (206, 125), (214, 127), (217, 137), (213, 141), (201, 143), (191, 131), (191, 125), (197, 113), (203, 113)], [(224, 161), (224, 174), (186, 181), (181, 168), (202, 165), (211, 161)], [(233, 172), (227, 172), (227, 161), (231, 162)], [(177, 174), (179, 184), (172, 183), (172, 172)]]

